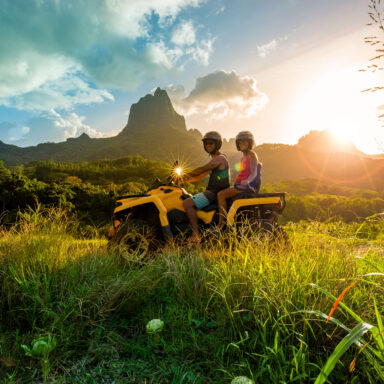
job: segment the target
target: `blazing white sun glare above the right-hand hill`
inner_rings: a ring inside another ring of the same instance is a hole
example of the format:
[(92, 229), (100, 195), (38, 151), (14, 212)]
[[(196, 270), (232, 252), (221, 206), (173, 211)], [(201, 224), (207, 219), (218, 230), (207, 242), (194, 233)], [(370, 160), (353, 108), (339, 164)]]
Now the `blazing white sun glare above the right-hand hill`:
[[(363, 152), (374, 153), (371, 136), (372, 126), (377, 124), (375, 111), (366, 105), (361, 86), (354, 81), (354, 73), (328, 68), (303, 84), (292, 99), (286, 117), (288, 129), (299, 131), (301, 136), (310, 130), (328, 130), (338, 147), (352, 143)], [(373, 122), (367, 120), (367, 111)]]

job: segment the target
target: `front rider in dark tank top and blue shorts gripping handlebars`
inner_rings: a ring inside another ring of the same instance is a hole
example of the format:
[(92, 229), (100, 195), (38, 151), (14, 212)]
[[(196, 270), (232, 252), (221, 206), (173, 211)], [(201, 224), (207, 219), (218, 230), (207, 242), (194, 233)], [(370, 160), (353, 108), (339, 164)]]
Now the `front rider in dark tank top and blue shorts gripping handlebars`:
[(202, 141), (205, 151), (208, 152), (212, 158), (211, 161), (202, 167), (192, 170), (185, 175), (184, 179), (178, 181), (178, 184), (191, 183), (209, 174), (206, 190), (183, 201), (183, 206), (192, 229), (192, 235), (189, 237), (189, 241), (193, 243), (200, 242), (196, 210), (203, 209), (214, 203), (217, 199), (218, 192), (229, 187), (228, 159), (224, 153), (220, 152), (223, 142), (221, 135), (215, 131), (207, 132)]

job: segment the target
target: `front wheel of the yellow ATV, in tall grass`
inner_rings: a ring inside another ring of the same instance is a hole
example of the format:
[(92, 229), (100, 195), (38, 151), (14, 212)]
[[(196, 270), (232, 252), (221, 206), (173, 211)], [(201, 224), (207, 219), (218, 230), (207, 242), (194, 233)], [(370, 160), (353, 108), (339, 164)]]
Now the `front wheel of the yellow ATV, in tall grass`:
[(157, 231), (143, 220), (131, 219), (121, 224), (110, 240), (110, 245), (118, 248), (123, 257), (135, 255), (143, 259), (160, 245)]

